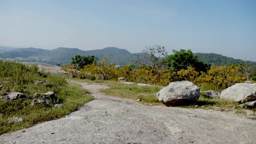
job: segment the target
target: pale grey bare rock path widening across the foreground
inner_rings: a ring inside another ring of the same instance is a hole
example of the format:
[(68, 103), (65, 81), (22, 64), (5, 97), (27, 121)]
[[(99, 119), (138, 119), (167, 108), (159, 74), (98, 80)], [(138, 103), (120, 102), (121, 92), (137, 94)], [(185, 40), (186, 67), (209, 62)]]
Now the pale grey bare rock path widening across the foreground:
[(256, 144), (256, 121), (214, 110), (144, 106), (80, 83), (95, 100), (65, 118), (0, 136), (0, 144)]

